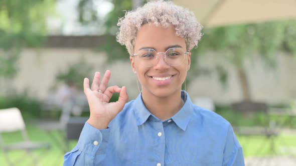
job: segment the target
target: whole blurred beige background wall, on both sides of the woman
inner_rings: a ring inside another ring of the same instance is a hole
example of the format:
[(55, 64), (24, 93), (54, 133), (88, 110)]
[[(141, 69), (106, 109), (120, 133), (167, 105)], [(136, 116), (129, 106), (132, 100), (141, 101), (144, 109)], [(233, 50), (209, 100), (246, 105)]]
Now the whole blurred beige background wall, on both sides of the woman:
[[(217, 75), (199, 76), (191, 85), (187, 85), (192, 98), (210, 97), (215, 102), (230, 103), (241, 99), (240, 87), (235, 70), (231, 64), (223, 59), (216, 59), (214, 53), (208, 53), (201, 57), (201, 65), (214, 67), (214, 64), (222, 63), (229, 70), (228, 88), (224, 88), (218, 81)], [(89, 49), (67, 49), (48, 48), (42, 50), (26, 49), (18, 62), (19, 72), (12, 81), (12, 85), (18, 90), (29, 88), (35, 95), (44, 98), (49, 87), (54, 84), (55, 76), (59, 70), (66, 70), (69, 64), (78, 62), (84, 58), (94, 66), (93, 71), (110, 69), (112, 76), (110, 84), (126, 85), (129, 98), (132, 99), (138, 94), (135, 75), (130, 64), (117, 62), (106, 65), (106, 55), (102, 52), (95, 52)], [(215, 57), (215, 58), (214, 58)], [(128, 58), (128, 57), (127, 57)], [(283, 53), (278, 53), (278, 67), (275, 70), (268, 70), (262, 67), (257, 58), (247, 62), (247, 72), (250, 80), (251, 94), (253, 99), (267, 101), (269, 103), (289, 102), (296, 98), (296, 59)]]

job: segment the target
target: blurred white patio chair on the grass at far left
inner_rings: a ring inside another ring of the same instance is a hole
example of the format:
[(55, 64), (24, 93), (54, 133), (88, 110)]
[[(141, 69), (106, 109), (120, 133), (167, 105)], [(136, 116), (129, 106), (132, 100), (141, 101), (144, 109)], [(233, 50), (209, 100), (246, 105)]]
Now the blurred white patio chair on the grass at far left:
[[(23, 140), (14, 143), (5, 143), (2, 137), (2, 134), (5, 132), (21, 132)], [(14, 162), (9, 158), (8, 153), (10, 151), (26, 150), (26, 154), (30, 154), (34, 164), (37, 165), (38, 159), (33, 155), (32, 150), (48, 149), (49, 147), (49, 143), (29, 140), (23, 116), (18, 108), (0, 109), (0, 149), (2, 149), (9, 165), (14, 165)]]

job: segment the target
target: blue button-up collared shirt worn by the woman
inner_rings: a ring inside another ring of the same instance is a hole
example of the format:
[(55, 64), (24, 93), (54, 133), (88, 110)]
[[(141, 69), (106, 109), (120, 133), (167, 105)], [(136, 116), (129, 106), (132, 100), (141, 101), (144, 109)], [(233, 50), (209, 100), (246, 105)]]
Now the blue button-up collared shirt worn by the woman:
[(164, 121), (146, 109), (139, 94), (107, 129), (86, 122), (64, 165), (244, 165), (230, 123), (182, 94), (185, 104)]

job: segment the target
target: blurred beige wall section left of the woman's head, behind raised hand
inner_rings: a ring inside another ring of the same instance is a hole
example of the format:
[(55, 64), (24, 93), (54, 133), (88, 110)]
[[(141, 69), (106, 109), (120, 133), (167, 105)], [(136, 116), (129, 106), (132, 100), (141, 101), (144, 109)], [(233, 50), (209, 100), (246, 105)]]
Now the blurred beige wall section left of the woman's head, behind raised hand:
[[(128, 59), (128, 56), (126, 58)], [(56, 75), (60, 71), (66, 71), (69, 65), (81, 59), (93, 66), (93, 70), (89, 71), (91, 76), (95, 71), (104, 72), (110, 69), (112, 72), (110, 85), (136, 85), (136, 79), (128, 61), (108, 65), (106, 55), (102, 52), (70, 48), (25, 49), (18, 62), (18, 75), (12, 83), (20, 91), (29, 88), (31, 95), (44, 98), (49, 88), (54, 85)], [(129, 91), (133, 96), (138, 94), (136, 86), (134, 89), (129, 88)]]

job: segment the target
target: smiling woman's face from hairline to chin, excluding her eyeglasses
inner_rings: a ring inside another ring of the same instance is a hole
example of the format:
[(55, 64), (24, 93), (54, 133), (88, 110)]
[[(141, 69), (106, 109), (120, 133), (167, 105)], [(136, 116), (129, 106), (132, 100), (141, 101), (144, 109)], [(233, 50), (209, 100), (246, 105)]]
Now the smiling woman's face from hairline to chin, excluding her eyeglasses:
[[(176, 35), (173, 25), (163, 28), (146, 23), (137, 32), (134, 53), (138, 53), (142, 48), (153, 48), (157, 52), (165, 52), (171, 47), (181, 47), (187, 51), (185, 39)], [(136, 71), (141, 83), (142, 94), (166, 97), (180, 92), (190, 68), (191, 53), (185, 56), (180, 65), (171, 66), (165, 61), (164, 54), (160, 53), (158, 62), (151, 67), (139, 64), (137, 57), (130, 56), (131, 67), (133, 71)]]

